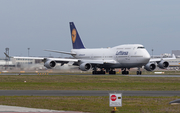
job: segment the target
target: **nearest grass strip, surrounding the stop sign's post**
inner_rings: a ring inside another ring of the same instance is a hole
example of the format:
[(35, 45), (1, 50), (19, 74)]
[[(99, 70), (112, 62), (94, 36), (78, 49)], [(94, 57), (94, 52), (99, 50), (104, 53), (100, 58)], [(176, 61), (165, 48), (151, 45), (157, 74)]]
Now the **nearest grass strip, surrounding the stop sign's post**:
[[(117, 113), (179, 113), (180, 105), (169, 102), (180, 97), (123, 96)], [(91, 113), (110, 113), (107, 96), (0, 96), (0, 104)]]

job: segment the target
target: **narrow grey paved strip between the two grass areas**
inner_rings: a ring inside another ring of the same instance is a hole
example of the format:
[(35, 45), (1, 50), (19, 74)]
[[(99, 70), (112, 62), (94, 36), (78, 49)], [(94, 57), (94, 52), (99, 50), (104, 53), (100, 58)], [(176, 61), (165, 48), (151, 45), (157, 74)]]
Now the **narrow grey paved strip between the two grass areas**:
[(180, 91), (79, 91), (79, 90), (0, 90), (0, 96), (180, 96)]

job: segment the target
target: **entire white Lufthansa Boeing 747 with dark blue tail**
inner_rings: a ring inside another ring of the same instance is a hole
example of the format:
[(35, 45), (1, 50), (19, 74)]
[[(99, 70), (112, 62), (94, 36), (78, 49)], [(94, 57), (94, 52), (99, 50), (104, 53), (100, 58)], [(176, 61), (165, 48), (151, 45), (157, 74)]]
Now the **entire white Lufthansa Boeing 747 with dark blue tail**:
[(169, 63), (165, 60), (175, 59), (174, 55), (172, 58), (150, 59), (148, 51), (141, 44), (124, 44), (112, 48), (87, 49), (81, 41), (74, 23), (70, 22), (69, 24), (73, 45), (71, 52), (56, 50), (46, 51), (69, 54), (73, 56), (72, 59), (28, 58), (42, 59), (44, 61), (44, 66), (48, 69), (54, 68), (57, 63), (64, 65), (65, 63), (73, 62), (73, 65), (79, 66), (79, 69), (82, 71), (92, 69), (92, 74), (105, 74), (106, 72), (109, 74), (116, 74), (115, 68), (121, 68), (122, 74), (129, 74), (130, 68), (137, 67), (137, 75), (142, 74), (140, 70), (142, 67), (147, 71), (153, 71), (157, 66), (161, 69), (165, 69), (169, 66)]

